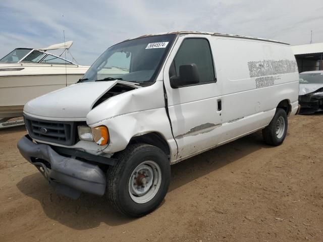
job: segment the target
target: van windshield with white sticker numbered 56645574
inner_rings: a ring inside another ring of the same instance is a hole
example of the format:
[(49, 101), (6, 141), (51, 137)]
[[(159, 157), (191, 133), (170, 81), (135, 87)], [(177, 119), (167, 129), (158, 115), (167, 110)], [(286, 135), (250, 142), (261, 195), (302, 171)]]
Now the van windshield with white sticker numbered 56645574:
[(160, 35), (116, 44), (94, 62), (80, 81), (154, 82), (174, 38), (175, 35)]

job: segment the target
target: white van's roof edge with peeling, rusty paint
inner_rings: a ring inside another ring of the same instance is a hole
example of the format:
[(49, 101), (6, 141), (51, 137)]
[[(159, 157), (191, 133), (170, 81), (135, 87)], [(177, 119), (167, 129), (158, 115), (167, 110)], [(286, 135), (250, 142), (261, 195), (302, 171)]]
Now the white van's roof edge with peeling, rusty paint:
[(285, 43), (285, 42), (272, 40), (272, 39), (263, 39), (263, 38), (256, 38), (256, 37), (250, 37), (250, 36), (235, 35), (235, 34), (224, 34), (224, 33), (213, 33), (213, 32), (198, 32), (198, 31), (175, 31), (175, 32), (157, 33), (157, 34), (145, 34), (145, 35), (141, 35), (141, 36), (136, 37), (136, 38), (126, 39), (125, 41), (131, 40), (131, 39), (139, 39), (139, 38), (149, 37), (149, 36), (166, 35), (166, 34), (206, 34), (206, 35), (216, 35), (216, 36), (229, 36), (229, 37), (236, 37), (236, 38), (243, 38), (243, 39), (256, 39), (256, 40), (269, 41), (269, 42), (275, 42), (275, 43), (280, 43), (280, 44), (288, 44), (288, 43)]

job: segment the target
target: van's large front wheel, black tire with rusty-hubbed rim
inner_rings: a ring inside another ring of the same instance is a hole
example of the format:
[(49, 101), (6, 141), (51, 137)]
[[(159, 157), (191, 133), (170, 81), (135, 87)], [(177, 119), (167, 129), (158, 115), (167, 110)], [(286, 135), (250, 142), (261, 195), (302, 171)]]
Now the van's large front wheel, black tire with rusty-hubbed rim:
[(171, 179), (166, 154), (152, 145), (133, 144), (115, 157), (119, 162), (106, 175), (107, 200), (130, 217), (140, 217), (156, 209), (165, 198)]

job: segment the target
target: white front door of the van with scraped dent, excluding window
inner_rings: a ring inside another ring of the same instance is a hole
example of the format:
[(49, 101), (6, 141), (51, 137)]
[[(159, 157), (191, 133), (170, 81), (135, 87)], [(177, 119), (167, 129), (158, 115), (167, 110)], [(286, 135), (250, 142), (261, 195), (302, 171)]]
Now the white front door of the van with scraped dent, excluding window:
[[(177, 159), (212, 146), (219, 137), (216, 130), (222, 120), (218, 110), (218, 97), (222, 93), (220, 82), (173, 89), (169, 81), (169, 68), (187, 35), (178, 38), (164, 69), (164, 82), (167, 90), (169, 114), (173, 134), (178, 145)], [(194, 35), (211, 41), (211, 36)]]

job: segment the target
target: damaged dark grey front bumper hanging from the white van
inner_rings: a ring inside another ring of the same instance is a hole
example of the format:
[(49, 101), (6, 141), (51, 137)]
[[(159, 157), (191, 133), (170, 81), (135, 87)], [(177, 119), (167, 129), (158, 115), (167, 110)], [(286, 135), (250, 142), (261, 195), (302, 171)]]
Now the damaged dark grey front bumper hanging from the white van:
[(57, 192), (73, 199), (82, 192), (99, 196), (105, 193), (106, 178), (97, 165), (62, 156), (49, 145), (33, 143), (27, 137), (17, 144), (20, 153), (37, 167)]

